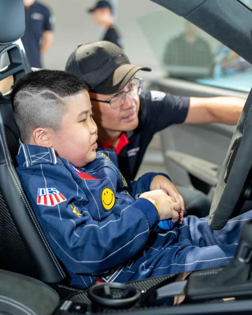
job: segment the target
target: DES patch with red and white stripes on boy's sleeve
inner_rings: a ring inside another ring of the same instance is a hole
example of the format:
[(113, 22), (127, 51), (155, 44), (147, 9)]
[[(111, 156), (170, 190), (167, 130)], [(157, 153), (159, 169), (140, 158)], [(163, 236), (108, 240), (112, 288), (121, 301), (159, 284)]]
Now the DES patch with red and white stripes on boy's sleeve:
[(53, 207), (66, 201), (66, 198), (56, 188), (38, 188), (37, 204)]

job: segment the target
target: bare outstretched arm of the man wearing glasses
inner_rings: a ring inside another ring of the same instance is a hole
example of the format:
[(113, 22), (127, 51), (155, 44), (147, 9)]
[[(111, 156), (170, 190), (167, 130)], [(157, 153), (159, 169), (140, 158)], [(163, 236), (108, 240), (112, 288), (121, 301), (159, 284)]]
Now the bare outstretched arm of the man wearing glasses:
[(239, 97), (191, 97), (185, 123), (236, 125), (245, 101)]

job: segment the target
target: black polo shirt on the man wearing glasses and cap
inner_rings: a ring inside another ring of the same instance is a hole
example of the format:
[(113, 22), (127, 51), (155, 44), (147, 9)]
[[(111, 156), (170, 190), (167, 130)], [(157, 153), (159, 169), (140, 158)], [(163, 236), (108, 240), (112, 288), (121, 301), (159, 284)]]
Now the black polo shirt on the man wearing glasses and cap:
[(183, 123), (189, 108), (189, 97), (160, 91), (144, 91), (140, 95), (139, 125), (126, 132), (129, 143), (118, 153), (119, 169), (134, 180), (153, 135), (171, 124)]

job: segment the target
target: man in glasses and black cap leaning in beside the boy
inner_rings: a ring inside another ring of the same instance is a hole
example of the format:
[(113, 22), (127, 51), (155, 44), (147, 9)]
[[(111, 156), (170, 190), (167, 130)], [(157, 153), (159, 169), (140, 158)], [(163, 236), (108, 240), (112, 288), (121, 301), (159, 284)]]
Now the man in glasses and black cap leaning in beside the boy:
[[(115, 150), (119, 169), (130, 180), (135, 178), (156, 132), (174, 123), (236, 124), (245, 103), (235, 97), (197, 98), (143, 91), (143, 81), (136, 72), (151, 69), (131, 65), (122, 49), (106, 41), (79, 45), (65, 70), (88, 83), (98, 146)], [(184, 198), (187, 213), (208, 215), (211, 202), (205, 194), (172, 185), (174, 198)]]

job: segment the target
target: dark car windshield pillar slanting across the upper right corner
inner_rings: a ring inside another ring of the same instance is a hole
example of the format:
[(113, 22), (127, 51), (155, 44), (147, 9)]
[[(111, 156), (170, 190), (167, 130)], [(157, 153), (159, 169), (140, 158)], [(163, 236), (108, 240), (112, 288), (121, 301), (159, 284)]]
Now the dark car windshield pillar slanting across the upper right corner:
[(252, 64), (252, 11), (238, 0), (151, 0), (184, 17)]

